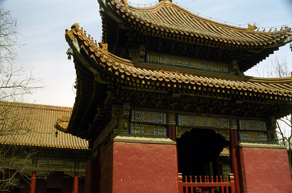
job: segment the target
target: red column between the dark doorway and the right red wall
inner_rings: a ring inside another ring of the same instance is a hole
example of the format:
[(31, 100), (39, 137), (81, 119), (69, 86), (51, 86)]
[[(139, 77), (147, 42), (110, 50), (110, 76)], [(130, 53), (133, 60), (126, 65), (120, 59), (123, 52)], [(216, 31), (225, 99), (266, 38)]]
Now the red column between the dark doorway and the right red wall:
[(229, 155), (231, 163), (231, 172), (234, 174), (235, 192), (240, 192), (239, 175), (237, 168), (236, 145), (238, 143), (237, 121), (236, 119), (229, 119)]

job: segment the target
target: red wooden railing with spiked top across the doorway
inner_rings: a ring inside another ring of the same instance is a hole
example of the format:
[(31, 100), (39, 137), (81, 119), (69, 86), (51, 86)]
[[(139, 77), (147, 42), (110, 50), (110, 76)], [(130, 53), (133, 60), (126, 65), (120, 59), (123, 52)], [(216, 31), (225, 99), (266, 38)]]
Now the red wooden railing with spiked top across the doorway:
[[(216, 176), (215, 179), (211, 176), (204, 177), (204, 182), (202, 177), (200, 176), (197, 179), (195, 176), (195, 182), (192, 181), (192, 176), (189, 177), (189, 182), (187, 180), (187, 176), (185, 176), (185, 182), (183, 182), (182, 173), (178, 173), (178, 192), (179, 193), (195, 193), (196, 190), (201, 190), (202, 193), (213, 193), (215, 188), (219, 188), (221, 193), (235, 193), (235, 184), (234, 184), (234, 176), (233, 173), (228, 175), (229, 182), (227, 176), (225, 179), (222, 176)], [(225, 180), (225, 182), (223, 182)]]

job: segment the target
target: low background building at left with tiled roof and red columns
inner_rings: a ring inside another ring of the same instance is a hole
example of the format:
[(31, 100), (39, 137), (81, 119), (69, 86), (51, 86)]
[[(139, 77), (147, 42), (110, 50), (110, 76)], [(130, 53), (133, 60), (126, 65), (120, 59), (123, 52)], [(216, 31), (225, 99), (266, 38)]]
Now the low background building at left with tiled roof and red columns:
[[(1, 193), (85, 191), (85, 166), (91, 157), (88, 142), (56, 133), (54, 128), (58, 117), (71, 116), (72, 108), (0, 102), (0, 112), (1, 130), (13, 131), (0, 136)], [(6, 124), (7, 121), (14, 123)], [(24, 128), (20, 124), (31, 129), (14, 130)], [(5, 128), (8, 125), (11, 128)]]

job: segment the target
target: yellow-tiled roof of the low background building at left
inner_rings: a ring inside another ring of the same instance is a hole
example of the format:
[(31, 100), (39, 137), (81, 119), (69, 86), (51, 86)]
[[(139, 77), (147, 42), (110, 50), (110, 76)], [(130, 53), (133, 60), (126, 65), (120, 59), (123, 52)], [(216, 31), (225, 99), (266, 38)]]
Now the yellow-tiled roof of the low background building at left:
[[(71, 134), (59, 132), (54, 128), (58, 117), (68, 119), (72, 108), (37, 105), (27, 103), (0, 102), (2, 145), (24, 145), (38, 147), (54, 147), (69, 149), (88, 149), (88, 142)], [(11, 121), (14, 122), (11, 122)], [(15, 124), (16, 123), (16, 124)], [(9, 128), (8, 128), (9, 127)], [(14, 130), (14, 128), (29, 128), (26, 130)], [(10, 133), (10, 131), (12, 133)], [(5, 133), (4, 133), (5, 132)], [(9, 134), (10, 133), (10, 134)]]

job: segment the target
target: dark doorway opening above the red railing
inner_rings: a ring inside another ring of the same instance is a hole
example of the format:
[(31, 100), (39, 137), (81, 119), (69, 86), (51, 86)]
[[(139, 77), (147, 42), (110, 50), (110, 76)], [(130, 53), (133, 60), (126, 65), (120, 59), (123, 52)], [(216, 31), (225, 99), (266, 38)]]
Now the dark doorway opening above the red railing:
[(217, 158), (229, 141), (213, 129), (193, 128), (177, 138), (178, 172), (183, 176), (217, 176)]

